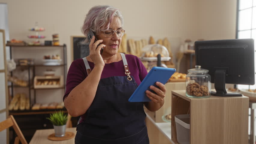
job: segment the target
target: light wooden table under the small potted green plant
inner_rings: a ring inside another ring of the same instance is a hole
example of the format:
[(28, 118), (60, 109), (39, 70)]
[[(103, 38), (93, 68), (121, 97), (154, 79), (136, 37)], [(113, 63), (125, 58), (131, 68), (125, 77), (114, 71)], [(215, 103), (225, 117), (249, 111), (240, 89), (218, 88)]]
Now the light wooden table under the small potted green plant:
[[(67, 128), (66, 131), (76, 134), (76, 128)], [(29, 144), (75, 144), (75, 137), (69, 140), (53, 141), (48, 136), (54, 133), (54, 129), (36, 130)]]

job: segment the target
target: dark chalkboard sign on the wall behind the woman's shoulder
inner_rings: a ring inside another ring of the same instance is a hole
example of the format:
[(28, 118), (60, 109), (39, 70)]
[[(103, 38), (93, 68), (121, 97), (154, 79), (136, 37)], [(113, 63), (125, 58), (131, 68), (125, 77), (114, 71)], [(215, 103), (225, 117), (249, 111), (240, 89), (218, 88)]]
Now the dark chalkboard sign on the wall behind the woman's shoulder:
[(90, 54), (89, 44), (80, 44), (84, 41), (85, 37), (82, 36), (72, 36), (72, 46), (73, 46), (73, 60), (78, 58), (84, 58)]

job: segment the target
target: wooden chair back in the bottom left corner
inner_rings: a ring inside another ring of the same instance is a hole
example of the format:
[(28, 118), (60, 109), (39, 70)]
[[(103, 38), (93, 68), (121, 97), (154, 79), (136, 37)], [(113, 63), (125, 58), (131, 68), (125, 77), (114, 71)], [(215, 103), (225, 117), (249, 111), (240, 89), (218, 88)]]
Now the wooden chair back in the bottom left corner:
[(16, 123), (16, 121), (15, 121), (15, 119), (12, 115), (10, 115), (9, 118), (6, 119), (5, 121), (0, 122), (0, 132), (7, 129), (7, 128), (10, 128), (11, 126), (14, 128), (14, 131), (17, 134), (17, 137), (15, 138), (14, 144), (18, 144), (19, 141), (22, 144), (28, 144), (25, 137), (23, 136), (22, 132), (20, 131), (19, 126), (17, 125), (17, 123)]

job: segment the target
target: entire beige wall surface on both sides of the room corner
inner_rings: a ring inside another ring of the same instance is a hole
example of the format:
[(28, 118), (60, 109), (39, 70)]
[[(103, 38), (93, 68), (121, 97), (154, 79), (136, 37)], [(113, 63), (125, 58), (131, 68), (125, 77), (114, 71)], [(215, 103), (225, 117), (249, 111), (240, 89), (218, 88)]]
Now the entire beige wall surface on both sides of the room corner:
[[(29, 41), (27, 35), (34, 33), (29, 32), (28, 29), (38, 22), (40, 27), (46, 29), (45, 32), (41, 32), (46, 36), (45, 40), (52, 40), (52, 34), (58, 33), (60, 43), (67, 44), (68, 67), (72, 62), (70, 36), (82, 35), (80, 29), (84, 16), (90, 7), (96, 4), (109, 4), (120, 8), (128, 38), (148, 39), (152, 35), (157, 40), (168, 37), (174, 54), (186, 38), (193, 41), (199, 38), (206, 40), (235, 38), (236, 0), (0, 0), (0, 2), (8, 4), (10, 39)], [(59, 50), (29, 49), (29, 51), (15, 49), (14, 57), (31, 57), (40, 61), (43, 55), (62, 54)], [(184, 64), (183, 60), (181, 72), (186, 73)], [(38, 68), (36, 74), (41, 75), (44, 70)], [(57, 71), (62, 74), (61, 68)], [(38, 102), (62, 101), (62, 91), (45, 91), (45, 93), (40, 96), (41, 92), (38, 91)]]

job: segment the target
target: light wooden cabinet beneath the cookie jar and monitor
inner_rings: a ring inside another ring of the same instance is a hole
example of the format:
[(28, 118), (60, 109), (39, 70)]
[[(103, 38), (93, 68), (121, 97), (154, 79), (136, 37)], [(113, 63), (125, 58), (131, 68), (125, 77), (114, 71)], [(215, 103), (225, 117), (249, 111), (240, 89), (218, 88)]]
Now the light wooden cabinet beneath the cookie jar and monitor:
[(172, 91), (172, 141), (178, 144), (174, 117), (190, 113), (190, 144), (248, 143), (249, 98), (188, 98)]

